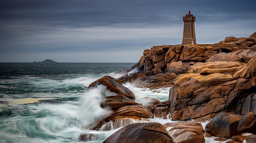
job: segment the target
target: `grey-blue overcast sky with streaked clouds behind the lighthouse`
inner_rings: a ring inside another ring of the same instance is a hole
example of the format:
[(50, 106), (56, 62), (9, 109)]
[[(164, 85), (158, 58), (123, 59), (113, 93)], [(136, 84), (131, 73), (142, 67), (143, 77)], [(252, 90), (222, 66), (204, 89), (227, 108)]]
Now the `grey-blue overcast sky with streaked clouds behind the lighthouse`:
[(0, 0), (0, 62), (137, 62), (181, 44), (196, 17), (198, 44), (256, 31), (256, 0)]

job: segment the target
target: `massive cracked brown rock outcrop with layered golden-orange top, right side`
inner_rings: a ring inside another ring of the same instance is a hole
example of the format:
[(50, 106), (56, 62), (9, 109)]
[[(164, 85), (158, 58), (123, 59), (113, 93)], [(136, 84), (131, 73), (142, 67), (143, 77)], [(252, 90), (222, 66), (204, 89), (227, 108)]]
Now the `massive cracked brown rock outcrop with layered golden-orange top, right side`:
[(209, 62), (192, 66), (188, 74), (175, 79), (170, 90), (171, 118), (210, 119), (219, 112), (236, 111), (236, 103), (256, 91), (251, 76), (241, 78), (248, 64)]

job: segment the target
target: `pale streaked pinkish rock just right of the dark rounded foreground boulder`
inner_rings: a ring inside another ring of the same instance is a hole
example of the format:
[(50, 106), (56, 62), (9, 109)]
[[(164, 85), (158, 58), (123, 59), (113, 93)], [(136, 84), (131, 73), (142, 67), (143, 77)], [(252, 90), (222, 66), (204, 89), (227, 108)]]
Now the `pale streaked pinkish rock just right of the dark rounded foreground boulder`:
[(178, 121), (164, 126), (176, 143), (205, 143), (201, 123)]

